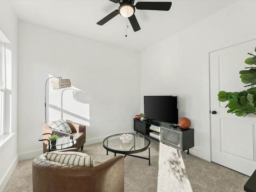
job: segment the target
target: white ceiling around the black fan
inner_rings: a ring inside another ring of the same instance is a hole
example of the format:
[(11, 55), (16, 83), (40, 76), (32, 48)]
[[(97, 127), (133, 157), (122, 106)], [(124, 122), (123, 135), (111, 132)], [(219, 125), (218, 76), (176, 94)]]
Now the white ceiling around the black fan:
[[(158, 0), (135, 0), (136, 2)], [(10, 0), (19, 20), (132, 50), (141, 51), (234, 4), (238, 0), (171, 1), (169, 11), (136, 10), (141, 30), (134, 32), (117, 15), (103, 26), (96, 23), (118, 9), (109, 0)], [(125, 36), (127, 34), (127, 37)]]

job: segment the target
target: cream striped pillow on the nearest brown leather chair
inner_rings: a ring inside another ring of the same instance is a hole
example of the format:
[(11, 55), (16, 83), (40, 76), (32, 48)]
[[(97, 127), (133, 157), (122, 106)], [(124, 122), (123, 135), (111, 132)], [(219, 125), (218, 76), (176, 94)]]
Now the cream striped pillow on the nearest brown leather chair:
[(58, 162), (61, 164), (67, 165), (76, 165), (76, 166), (86, 166), (92, 167), (95, 165), (93, 160), (93, 156), (89, 156), (85, 153), (75, 152), (75, 151), (54, 151), (54, 152), (46, 152), (47, 159)]

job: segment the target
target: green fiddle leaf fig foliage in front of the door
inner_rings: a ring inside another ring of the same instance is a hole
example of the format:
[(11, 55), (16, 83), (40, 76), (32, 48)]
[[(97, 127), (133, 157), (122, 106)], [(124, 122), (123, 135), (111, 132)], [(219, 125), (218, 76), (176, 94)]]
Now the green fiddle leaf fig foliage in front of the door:
[[(256, 48), (254, 52), (256, 52)], [(249, 70), (239, 72), (242, 82), (248, 84), (244, 87), (256, 85), (256, 55), (248, 54), (253, 56), (245, 60), (245, 63), (250, 65), (250, 67), (246, 67), (246, 69)], [(252, 96), (251, 102), (248, 100), (248, 96)], [(226, 105), (226, 107), (229, 108), (228, 113), (235, 113), (236, 116), (246, 116), (248, 114), (256, 115), (256, 87), (241, 92), (220, 91), (218, 100), (220, 102), (228, 101)]]

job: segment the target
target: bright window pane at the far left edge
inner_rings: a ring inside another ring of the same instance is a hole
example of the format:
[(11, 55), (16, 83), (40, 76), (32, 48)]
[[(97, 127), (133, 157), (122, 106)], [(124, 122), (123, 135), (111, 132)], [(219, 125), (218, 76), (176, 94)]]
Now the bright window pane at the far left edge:
[(4, 134), (4, 92), (5, 92), (5, 52), (4, 42), (0, 40), (0, 135)]

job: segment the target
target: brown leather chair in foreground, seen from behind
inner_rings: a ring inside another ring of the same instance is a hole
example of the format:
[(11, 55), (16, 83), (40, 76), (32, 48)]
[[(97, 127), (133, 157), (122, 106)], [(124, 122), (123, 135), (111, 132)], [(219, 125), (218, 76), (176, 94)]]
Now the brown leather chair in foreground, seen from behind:
[(42, 154), (33, 161), (32, 177), (33, 192), (124, 192), (124, 157), (83, 167), (50, 161)]

